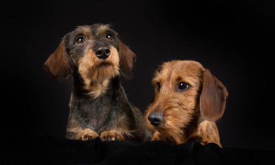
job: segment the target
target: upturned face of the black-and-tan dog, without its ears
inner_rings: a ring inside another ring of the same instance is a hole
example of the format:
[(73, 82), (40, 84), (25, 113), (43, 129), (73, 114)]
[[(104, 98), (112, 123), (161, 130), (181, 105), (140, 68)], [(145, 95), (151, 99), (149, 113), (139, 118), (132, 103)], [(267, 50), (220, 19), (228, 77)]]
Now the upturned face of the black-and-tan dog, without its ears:
[(78, 27), (65, 36), (65, 45), (83, 79), (96, 82), (118, 76), (118, 36), (107, 25)]

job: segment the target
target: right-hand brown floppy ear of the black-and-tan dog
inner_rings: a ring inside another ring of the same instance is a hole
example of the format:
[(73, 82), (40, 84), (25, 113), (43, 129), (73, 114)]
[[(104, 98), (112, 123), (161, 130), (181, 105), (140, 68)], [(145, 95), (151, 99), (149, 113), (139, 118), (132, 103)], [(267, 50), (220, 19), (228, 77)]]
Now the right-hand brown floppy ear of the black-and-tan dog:
[(120, 40), (118, 40), (118, 45), (120, 49), (120, 73), (126, 78), (131, 78), (135, 69), (135, 53)]

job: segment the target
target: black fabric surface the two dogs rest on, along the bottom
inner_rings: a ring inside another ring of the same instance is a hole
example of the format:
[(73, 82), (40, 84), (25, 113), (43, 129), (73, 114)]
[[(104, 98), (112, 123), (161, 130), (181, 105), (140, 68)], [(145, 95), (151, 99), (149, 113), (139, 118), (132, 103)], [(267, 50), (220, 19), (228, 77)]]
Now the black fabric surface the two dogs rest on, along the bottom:
[(41, 136), (2, 140), (4, 164), (270, 164), (275, 151), (202, 146), (197, 142), (101, 142)]

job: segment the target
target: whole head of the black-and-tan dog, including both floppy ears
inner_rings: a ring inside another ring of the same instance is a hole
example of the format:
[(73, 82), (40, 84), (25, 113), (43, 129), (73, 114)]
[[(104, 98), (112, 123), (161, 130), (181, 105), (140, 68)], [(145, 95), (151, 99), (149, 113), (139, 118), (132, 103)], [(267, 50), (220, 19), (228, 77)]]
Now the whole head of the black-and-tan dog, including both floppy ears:
[(44, 69), (57, 80), (78, 73), (87, 89), (102, 91), (100, 87), (107, 84), (108, 78), (120, 73), (127, 78), (133, 76), (134, 65), (135, 54), (118, 39), (118, 34), (110, 25), (98, 23), (79, 26), (66, 34)]

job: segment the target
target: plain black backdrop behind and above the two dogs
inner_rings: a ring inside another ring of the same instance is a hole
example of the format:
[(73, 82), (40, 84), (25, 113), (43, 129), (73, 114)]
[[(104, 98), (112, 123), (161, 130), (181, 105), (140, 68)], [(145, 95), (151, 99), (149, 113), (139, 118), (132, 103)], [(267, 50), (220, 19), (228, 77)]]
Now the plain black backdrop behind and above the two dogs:
[(63, 137), (73, 79), (51, 80), (43, 63), (78, 25), (111, 23), (137, 55), (122, 78), (144, 111), (164, 61), (195, 60), (227, 87), (217, 121), (224, 147), (275, 149), (273, 1), (33, 1), (1, 4), (1, 137)]

